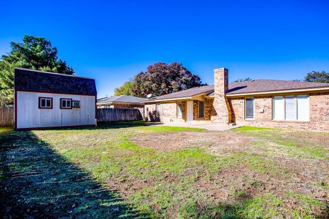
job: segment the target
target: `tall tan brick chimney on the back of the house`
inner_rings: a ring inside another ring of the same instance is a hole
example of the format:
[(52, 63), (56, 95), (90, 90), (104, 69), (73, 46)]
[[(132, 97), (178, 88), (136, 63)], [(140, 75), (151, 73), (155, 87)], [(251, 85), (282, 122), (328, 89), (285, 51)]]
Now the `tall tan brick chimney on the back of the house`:
[(215, 123), (229, 123), (228, 100), (226, 93), (228, 92), (228, 69), (216, 68), (214, 70), (214, 88), (215, 99), (214, 108), (217, 116), (212, 116), (211, 120)]

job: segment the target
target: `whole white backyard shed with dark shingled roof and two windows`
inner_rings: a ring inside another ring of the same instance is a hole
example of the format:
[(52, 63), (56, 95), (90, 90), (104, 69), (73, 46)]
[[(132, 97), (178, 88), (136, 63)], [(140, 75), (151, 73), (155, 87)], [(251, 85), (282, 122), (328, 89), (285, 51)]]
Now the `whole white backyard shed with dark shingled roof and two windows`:
[(96, 100), (94, 79), (14, 69), (16, 130), (95, 126)]

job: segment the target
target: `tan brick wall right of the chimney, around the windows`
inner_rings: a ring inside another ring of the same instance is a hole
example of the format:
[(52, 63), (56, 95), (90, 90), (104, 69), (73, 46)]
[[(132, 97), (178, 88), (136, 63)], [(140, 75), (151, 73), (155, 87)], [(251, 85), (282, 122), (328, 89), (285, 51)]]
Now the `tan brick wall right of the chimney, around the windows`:
[(309, 122), (272, 120), (272, 99), (273, 96), (258, 96), (254, 99), (254, 120), (245, 120), (244, 99), (230, 99), (236, 124), (258, 127), (329, 131), (329, 92), (309, 95)]

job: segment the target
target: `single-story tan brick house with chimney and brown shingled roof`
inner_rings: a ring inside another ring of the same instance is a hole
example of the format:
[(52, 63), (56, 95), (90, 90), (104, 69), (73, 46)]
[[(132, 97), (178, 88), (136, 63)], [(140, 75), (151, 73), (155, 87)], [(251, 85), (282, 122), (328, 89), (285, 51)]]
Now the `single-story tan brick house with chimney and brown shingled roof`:
[(228, 83), (226, 68), (214, 70), (214, 82), (143, 101), (145, 118), (329, 131), (329, 83), (268, 79)]

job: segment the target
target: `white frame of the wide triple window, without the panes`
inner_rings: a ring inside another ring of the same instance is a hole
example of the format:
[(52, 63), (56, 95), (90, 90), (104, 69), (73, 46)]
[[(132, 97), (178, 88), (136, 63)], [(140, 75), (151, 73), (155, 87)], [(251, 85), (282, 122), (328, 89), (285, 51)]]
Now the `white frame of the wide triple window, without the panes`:
[[(290, 122), (309, 122), (310, 121), (310, 96), (308, 94), (293, 94), (293, 95), (281, 95), (283, 99), (283, 120), (276, 120), (274, 118), (274, 107), (275, 107), (275, 102), (274, 102), (274, 97), (272, 99), (272, 120), (273, 121), (290, 121)], [(287, 119), (286, 118), (286, 96), (293, 96), (294, 98), (294, 119)], [(308, 103), (308, 119), (307, 120), (300, 120), (298, 119), (298, 105), (297, 105), (297, 96), (307, 96), (307, 103)]]

